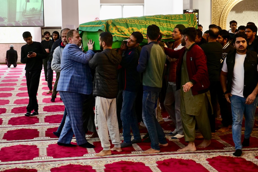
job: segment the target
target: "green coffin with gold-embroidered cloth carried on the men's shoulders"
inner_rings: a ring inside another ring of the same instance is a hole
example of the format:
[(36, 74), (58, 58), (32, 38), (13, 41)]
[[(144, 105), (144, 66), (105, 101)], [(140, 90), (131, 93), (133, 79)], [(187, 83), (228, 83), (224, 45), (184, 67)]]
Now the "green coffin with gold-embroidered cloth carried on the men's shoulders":
[(112, 48), (120, 48), (121, 41), (128, 39), (135, 31), (142, 33), (144, 39), (141, 45), (146, 45), (148, 43), (146, 33), (149, 25), (159, 26), (163, 41), (173, 41), (172, 32), (177, 24), (183, 24), (186, 28), (197, 28), (196, 16), (195, 14), (174, 14), (97, 20), (80, 24), (79, 32), (85, 51), (88, 50), (89, 39), (95, 41), (94, 50), (100, 50), (98, 39), (101, 32), (110, 32), (113, 35)]

